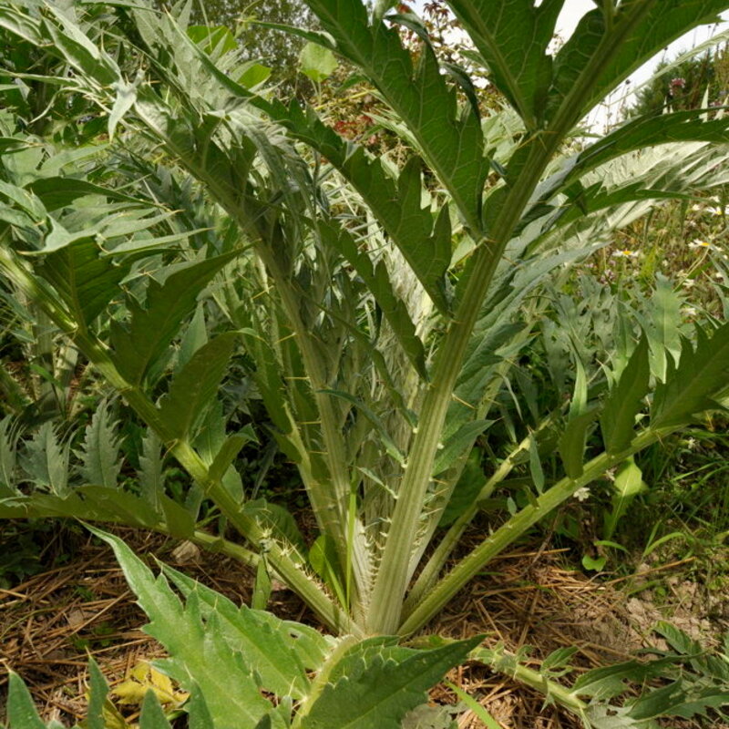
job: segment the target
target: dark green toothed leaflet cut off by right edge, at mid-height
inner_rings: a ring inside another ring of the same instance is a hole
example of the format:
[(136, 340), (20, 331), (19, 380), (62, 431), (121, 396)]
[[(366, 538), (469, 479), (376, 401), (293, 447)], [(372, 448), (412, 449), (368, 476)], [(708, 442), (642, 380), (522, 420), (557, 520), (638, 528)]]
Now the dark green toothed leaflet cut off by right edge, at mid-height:
[(711, 339), (696, 327), (696, 346), (683, 339), (678, 366), (669, 360), (665, 383), (653, 395), (651, 426), (681, 426), (706, 410), (721, 409), (714, 400), (729, 384), (729, 323)]

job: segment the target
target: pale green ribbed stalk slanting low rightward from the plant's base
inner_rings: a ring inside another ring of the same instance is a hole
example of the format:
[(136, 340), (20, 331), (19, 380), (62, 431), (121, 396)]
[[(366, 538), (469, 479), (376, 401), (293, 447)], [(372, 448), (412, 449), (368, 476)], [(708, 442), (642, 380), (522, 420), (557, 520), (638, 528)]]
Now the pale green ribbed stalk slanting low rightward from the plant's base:
[(499, 527), (490, 537), (484, 539), (476, 549), (448, 574), (439, 580), (430, 590), (424, 600), (420, 602), (405, 621), (397, 629), (400, 635), (409, 635), (422, 628), (438, 611), (441, 611), (448, 601), (452, 600), (469, 580), (472, 580), (490, 560), (508, 547), (509, 544), (524, 534), (550, 511), (570, 498), (575, 491), (587, 486), (596, 478), (601, 477), (609, 468), (619, 466), (627, 457), (650, 446), (652, 443), (668, 435), (670, 430), (646, 430), (636, 436), (629, 448), (620, 453), (609, 455), (602, 453), (585, 464), (584, 471), (579, 478), (562, 478), (552, 488), (536, 498), (529, 506), (522, 508), (517, 514)]

